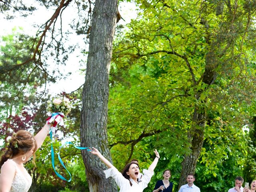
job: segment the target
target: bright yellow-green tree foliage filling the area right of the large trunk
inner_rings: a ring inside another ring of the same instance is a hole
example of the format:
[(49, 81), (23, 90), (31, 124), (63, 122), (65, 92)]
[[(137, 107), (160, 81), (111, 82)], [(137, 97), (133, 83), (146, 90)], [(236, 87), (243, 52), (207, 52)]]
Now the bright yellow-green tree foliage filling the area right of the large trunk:
[[(203, 128), (196, 184), (202, 191), (231, 188), (230, 178), (245, 167), (250, 138), (244, 126), (252, 129), (254, 114), (255, 29), (247, 16), (255, 7), (239, 1), (233, 12), (234, 4), (206, 1), (136, 2), (141, 11), (129, 30), (118, 33), (110, 71), (114, 164), (147, 161), (143, 154), (158, 148), (174, 163), (176, 191), (180, 162), (192, 151), (189, 136)], [(205, 116), (203, 127), (194, 120), (195, 110)]]

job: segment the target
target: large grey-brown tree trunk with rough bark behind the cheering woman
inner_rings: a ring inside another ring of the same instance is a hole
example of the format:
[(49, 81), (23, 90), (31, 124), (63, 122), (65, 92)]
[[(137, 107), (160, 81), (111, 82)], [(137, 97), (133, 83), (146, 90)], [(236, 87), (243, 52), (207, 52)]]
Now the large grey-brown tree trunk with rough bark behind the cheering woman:
[[(111, 161), (107, 138), (108, 80), (118, 0), (96, 0), (90, 30), (89, 54), (83, 88), (81, 146), (95, 147)], [(115, 192), (116, 183), (105, 178), (106, 166), (82, 151), (90, 192)]]

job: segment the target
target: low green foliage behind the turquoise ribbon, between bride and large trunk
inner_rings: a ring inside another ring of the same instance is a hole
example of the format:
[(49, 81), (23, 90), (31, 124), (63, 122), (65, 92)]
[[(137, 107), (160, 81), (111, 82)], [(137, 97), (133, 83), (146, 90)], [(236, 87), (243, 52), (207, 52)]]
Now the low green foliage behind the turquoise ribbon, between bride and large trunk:
[[(78, 140), (75, 140), (73, 143), (78, 146), (80, 142)], [(36, 168), (34, 168), (32, 162), (28, 162), (28, 164), (26, 164), (26, 168), (28, 169), (30, 174), (33, 175), (33, 182), (35, 187), (37, 188), (36, 191), (44, 192), (46, 191), (46, 189), (49, 191), (56, 191), (65, 188), (65, 190), (70, 189), (70, 191), (74, 190), (82, 192), (88, 189), (88, 184), (86, 182), (85, 176), (85, 168), (82, 157), (80, 155), (80, 150), (77, 150), (70, 145), (62, 148), (62, 150), (60, 151), (62, 161), (64, 162), (65, 166), (67, 167), (68, 171), (72, 176), (71, 182), (65, 182), (55, 174), (52, 168), (50, 146), (51, 141), (48, 137), (44, 141), (42, 147), (36, 152)], [(55, 169), (60, 175), (69, 179), (67, 171), (58, 161), (57, 152), (60, 146), (61, 142), (55, 139), (55, 141), (53, 142), (55, 154)]]

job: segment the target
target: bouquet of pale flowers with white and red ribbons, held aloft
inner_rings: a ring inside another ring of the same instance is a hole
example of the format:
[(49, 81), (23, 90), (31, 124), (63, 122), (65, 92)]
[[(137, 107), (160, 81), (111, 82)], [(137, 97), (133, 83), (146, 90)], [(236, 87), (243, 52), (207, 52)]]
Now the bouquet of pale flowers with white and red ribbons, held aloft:
[(52, 98), (47, 101), (47, 115), (46, 120), (52, 123), (52, 132), (55, 132), (57, 125), (64, 126), (63, 118), (67, 116), (71, 110), (70, 101), (67, 98)]

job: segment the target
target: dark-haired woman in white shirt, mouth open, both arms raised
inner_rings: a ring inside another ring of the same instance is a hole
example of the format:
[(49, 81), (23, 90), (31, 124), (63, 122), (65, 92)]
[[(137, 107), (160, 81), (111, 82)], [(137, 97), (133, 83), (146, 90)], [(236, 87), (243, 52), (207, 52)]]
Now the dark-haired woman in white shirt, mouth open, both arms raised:
[(143, 177), (138, 181), (140, 177), (140, 167), (138, 164), (130, 162), (126, 164), (122, 173), (120, 173), (96, 148), (90, 149), (90, 153), (98, 156), (98, 158), (100, 158), (100, 160), (108, 167), (107, 170), (104, 170), (106, 178), (112, 177), (120, 188), (120, 192), (143, 192), (148, 186), (148, 183), (154, 174), (154, 168), (156, 168), (156, 164), (160, 158), (157, 150), (154, 150), (156, 158), (148, 167), (148, 170), (143, 170)]

